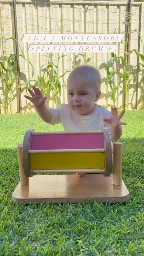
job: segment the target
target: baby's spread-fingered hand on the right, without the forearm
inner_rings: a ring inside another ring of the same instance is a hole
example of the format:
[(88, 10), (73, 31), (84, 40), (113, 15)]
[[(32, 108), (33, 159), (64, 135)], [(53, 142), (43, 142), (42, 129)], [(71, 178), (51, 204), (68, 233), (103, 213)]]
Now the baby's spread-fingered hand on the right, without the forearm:
[(111, 107), (111, 115), (108, 118), (103, 118), (103, 120), (110, 124), (110, 126), (114, 129), (118, 128), (119, 125), (126, 125), (126, 123), (121, 122), (120, 119), (124, 115), (125, 110), (118, 115), (118, 110), (116, 107)]

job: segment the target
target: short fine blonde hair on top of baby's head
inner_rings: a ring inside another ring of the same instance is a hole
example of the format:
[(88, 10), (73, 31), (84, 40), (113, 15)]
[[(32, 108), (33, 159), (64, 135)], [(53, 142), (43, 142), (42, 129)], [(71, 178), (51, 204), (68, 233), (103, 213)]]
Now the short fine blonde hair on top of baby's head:
[[(76, 67), (68, 76), (68, 79), (72, 76), (72, 75), (79, 75), (79, 76), (83, 76), (86, 77), (88, 80), (90, 80), (96, 87), (96, 91), (99, 92), (101, 90), (101, 75), (99, 73), (99, 71), (91, 66), (79, 66)], [(67, 79), (67, 81), (68, 81)]]

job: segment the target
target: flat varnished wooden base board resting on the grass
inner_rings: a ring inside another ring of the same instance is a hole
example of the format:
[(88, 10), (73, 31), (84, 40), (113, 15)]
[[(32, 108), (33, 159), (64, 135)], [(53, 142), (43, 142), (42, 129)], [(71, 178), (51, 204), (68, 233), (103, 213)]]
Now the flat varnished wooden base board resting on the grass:
[(129, 191), (125, 183), (113, 185), (113, 175), (102, 174), (35, 175), (29, 178), (28, 185), (17, 185), (12, 194), (13, 202), (64, 203), (84, 202), (85, 199), (96, 202), (125, 202)]

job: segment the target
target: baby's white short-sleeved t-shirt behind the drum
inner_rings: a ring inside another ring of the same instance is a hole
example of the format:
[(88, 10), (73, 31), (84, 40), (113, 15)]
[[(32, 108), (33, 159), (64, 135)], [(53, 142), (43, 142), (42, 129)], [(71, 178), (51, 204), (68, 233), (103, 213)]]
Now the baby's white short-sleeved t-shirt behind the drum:
[(64, 131), (93, 131), (102, 130), (109, 124), (103, 121), (104, 117), (110, 116), (110, 111), (100, 105), (96, 105), (94, 112), (89, 116), (75, 113), (68, 104), (61, 104), (51, 111), (51, 123), (62, 123)]

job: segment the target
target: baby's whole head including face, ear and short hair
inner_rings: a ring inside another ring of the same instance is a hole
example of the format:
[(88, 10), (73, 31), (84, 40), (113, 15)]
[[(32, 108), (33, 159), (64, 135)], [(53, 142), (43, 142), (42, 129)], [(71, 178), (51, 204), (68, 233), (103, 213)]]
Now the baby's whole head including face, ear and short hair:
[(77, 114), (91, 115), (101, 95), (100, 73), (90, 66), (75, 68), (67, 78), (68, 106)]

